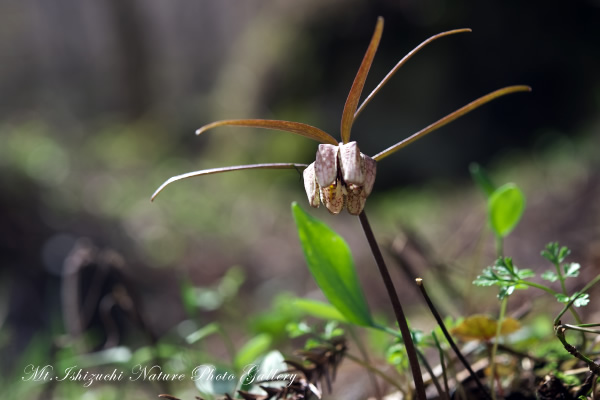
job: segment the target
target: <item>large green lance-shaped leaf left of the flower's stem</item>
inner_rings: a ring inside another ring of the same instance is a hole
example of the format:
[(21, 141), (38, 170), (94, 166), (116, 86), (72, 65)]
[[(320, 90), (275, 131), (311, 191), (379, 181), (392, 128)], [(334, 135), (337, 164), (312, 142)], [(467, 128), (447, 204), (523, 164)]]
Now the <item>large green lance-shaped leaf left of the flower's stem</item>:
[(295, 202), (292, 213), (308, 269), (325, 297), (349, 322), (373, 326), (348, 244)]

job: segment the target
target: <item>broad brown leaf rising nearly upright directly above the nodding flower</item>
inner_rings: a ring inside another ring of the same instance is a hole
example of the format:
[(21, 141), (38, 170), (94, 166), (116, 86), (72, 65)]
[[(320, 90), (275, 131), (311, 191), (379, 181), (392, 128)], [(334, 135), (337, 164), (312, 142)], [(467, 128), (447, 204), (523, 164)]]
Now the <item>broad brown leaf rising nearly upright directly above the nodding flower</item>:
[(367, 80), (369, 69), (371, 69), (371, 64), (373, 64), (373, 58), (375, 58), (375, 53), (377, 52), (377, 47), (381, 41), (382, 33), (383, 17), (379, 17), (377, 18), (375, 32), (373, 32), (373, 37), (371, 38), (371, 42), (369, 43), (369, 47), (367, 48), (367, 52), (365, 53), (362, 63), (358, 68), (358, 72), (354, 78), (354, 82), (352, 83), (352, 88), (350, 88), (350, 93), (346, 99), (346, 104), (344, 105), (344, 112), (342, 113), (342, 123), (340, 127), (342, 143), (348, 143), (350, 141), (350, 131), (352, 130), (352, 123), (354, 122), (354, 113), (358, 107), (360, 95), (362, 94), (362, 90), (365, 86), (365, 81)]

